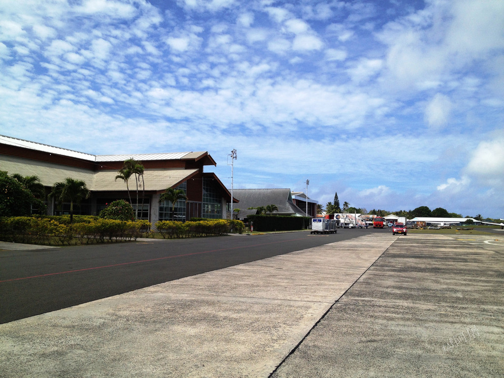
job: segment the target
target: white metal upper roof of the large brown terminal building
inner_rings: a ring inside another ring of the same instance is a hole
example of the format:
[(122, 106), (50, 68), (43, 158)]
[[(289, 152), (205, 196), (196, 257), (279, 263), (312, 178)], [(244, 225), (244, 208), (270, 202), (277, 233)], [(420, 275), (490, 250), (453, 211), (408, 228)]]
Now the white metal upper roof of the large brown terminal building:
[(173, 160), (173, 159), (183, 159), (184, 157), (196, 158), (198, 156), (205, 154), (205, 152), (190, 151), (190, 152), (171, 152), (171, 153), (158, 153), (158, 154), (92, 155), (84, 152), (68, 150), (66, 148), (54, 147), (42, 143), (30, 142), (23, 139), (7, 137), (5, 135), (0, 135), (0, 143), (95, 162), (124, 161), (132, 158), (135, 160)]

